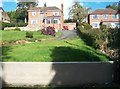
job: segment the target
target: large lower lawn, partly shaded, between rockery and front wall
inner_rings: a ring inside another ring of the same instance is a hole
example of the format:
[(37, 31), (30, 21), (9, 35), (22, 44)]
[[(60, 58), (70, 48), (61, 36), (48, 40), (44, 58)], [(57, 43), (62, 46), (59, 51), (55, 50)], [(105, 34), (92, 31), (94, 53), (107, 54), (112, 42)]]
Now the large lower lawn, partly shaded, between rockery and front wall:
[(2, 47), (4, 62), (77, 62), (108, 61), (106, 55), (86, 45), (81, 39), (46, 40)]

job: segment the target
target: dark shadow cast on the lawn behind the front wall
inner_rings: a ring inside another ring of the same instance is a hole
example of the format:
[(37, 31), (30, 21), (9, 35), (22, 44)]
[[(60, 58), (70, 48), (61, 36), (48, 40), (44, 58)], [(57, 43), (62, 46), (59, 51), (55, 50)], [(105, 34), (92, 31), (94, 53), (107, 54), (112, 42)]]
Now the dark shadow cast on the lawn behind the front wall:
[(71, 61), (100, 61), (100, 58), (88, 51), (74, 49), (71, 47), (55, 47), (52, 50), (53, 62), (71, 62)]

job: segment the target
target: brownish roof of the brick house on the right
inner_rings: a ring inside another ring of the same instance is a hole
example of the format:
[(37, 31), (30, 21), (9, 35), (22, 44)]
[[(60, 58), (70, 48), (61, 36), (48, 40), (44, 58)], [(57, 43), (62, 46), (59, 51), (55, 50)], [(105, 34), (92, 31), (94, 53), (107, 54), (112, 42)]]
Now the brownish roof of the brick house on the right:
[(106, 8), (106, 9), (97, 9), (90, 14), (116, 14), (116, 13), (118, 13), (116, 10)]

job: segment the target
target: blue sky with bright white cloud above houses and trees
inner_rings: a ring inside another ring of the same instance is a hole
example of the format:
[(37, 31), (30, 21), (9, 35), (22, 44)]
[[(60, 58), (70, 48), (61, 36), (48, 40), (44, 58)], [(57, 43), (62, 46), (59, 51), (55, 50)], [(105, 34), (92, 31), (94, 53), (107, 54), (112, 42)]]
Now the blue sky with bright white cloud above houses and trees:
[[(30, 0), (23, 0), (30, 1)], [(61, 4), (64, 5), (64, 18), (67, 19), (69, 8), (72, 6), (72, 3), (76, 0), (39, 0), (38, 6), (43, 6), (46, 2), (47, 6), (57, 6), (61, 8)], [(77, 0), (83, 7), (90, 7), (91, 11), (95, 9), (105, 8), (106, 5), (112, 5), (119, 0)], [(0, 0), (0, 7), (3, 7), (5, 11), (15, 11), (17, 6), (17, 0)]]

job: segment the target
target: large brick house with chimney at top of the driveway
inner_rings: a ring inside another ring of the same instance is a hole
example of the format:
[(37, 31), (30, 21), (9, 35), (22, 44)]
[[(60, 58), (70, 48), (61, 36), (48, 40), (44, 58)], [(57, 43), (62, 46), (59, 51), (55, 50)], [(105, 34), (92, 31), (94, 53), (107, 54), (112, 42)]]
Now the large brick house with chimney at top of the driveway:
[(51, 26), (60, 30), (64, 24), (63, 17), (63, 4), (61, 4), (61, 9), (56, 6), (30, 7), (28, 10), (28, 27), (41, 29)]

